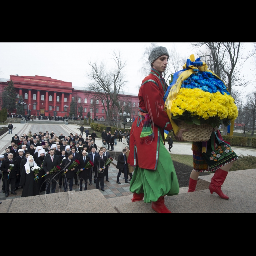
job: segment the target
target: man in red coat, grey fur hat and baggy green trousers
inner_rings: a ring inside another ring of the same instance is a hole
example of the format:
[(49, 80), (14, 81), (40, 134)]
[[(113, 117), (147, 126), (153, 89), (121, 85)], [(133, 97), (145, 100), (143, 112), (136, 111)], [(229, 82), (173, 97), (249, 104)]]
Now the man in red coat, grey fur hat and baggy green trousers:
[[(140, 114), (131, 129), (128, 159), (131, 166), (136, 166), (130, 187), (132, 202), (144, 198), (145, 203), (153, 202), (152, 208), (158, 213), (171, 213), (164, 197), (179, 193), (172, 158), (163, 143), (164, 130), (172, 131), (163, 101), (167, 85), (162, 73), (168, 59), (169, 53), (162, 46), (154, 48), (149, 55), (152, 70), (140, 87)], [(182, 132), (177, 137), (182, 137)]]

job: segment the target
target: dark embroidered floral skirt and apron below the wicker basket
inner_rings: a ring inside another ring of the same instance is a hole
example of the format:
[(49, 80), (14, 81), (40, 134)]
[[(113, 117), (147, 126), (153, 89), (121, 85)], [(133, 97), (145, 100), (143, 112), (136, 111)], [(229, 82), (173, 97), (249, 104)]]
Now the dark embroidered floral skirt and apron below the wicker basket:
[(212, 149), (211, 140), (207, 143), (206, 153), (202, 153), (202, 142), (193, 142), (193, 166), (195, 172), (214, 172), (238, 159), (229, 144), (219, 143), (215, 139), (216, 149)]

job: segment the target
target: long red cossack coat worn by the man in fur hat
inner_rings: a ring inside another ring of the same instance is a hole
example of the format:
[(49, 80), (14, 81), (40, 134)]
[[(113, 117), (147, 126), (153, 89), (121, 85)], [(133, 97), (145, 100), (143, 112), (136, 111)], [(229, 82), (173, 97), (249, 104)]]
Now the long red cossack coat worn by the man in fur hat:
[(163, 97), (166, 90), (165, 80), (160, 77), (158, 71), (152, 69), (150, 75), (143, 80), (140, 87), (139, 111), (150, 115), (154, 139), (150, 141), (148, 137), (140, 138), (144, 116), (138, 116), (131, 128), (130, 154), (128, 159), (128, 163), (131, 166), (139, 166), (139, 168), (147, 170), (157, 169), (160, 136), (164, 140), (164, 130), (172, 131), (173, 129), (169, 117), (164, 111), (165, 102)]

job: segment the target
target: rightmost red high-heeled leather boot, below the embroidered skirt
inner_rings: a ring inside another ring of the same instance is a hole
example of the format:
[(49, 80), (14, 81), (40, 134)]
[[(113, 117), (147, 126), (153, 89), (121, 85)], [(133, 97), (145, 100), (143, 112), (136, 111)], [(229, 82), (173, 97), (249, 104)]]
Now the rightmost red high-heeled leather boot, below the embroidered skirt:
[(226, 180), (227, 174), (228, 172), (218, 169), (211, 179), (211, 185), (209, 187), (211, 194), (215, 192), (219, 197), (225, 200), (228, 200), (229, 197), (222, 192), (221, 186)]

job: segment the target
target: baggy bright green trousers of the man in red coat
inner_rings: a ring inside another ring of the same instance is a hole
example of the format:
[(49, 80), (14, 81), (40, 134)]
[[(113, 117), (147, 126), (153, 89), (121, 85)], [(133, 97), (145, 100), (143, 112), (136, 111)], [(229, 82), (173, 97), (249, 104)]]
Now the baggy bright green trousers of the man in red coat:
[(144, 193), (145, 203), (157, 202), (161, 196), (174, 196), (180, 192), (172, 158), (163, 144), (162, 136), (160, 137), (157, 169), (151, 171), (136, 166), (131, 181), (130, 191)]

